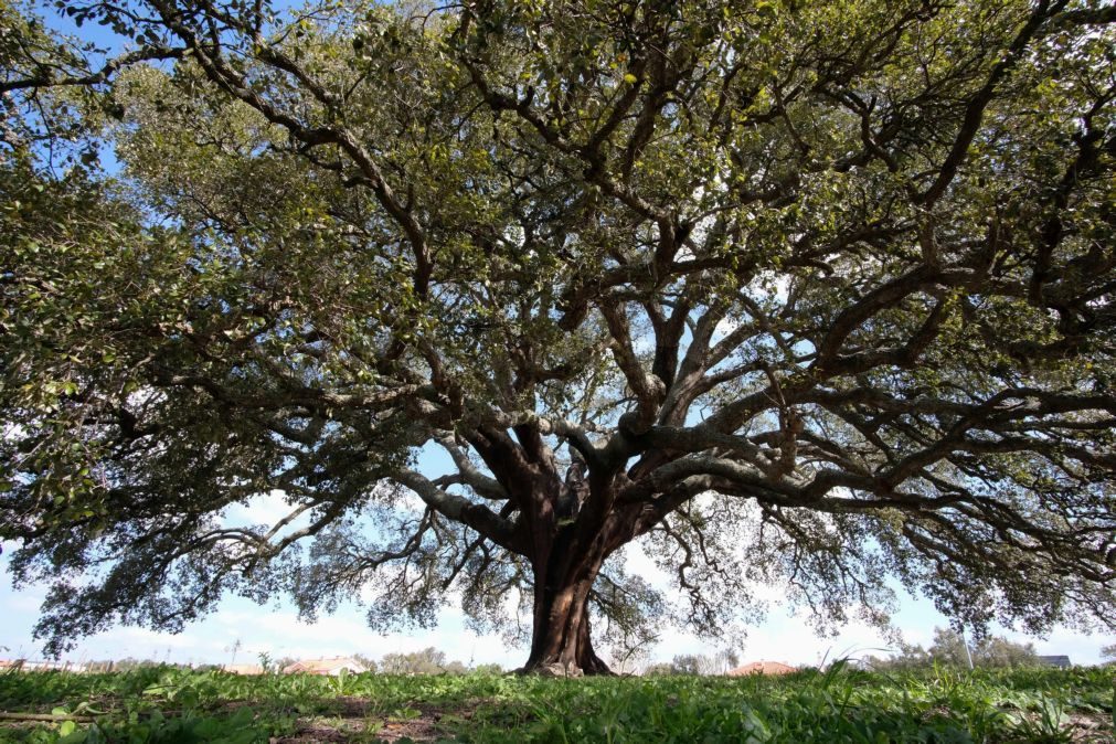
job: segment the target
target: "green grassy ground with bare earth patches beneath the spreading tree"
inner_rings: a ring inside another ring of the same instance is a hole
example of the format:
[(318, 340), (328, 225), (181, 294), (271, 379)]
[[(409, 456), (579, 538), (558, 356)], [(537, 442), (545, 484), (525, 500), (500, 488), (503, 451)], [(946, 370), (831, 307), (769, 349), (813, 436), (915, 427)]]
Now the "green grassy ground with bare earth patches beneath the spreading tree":
[[(0, 742), (1116, 742), (1110, 669), (742, 679), (0, 676)], [(50, 721), (17, 719), (50, 716)]]

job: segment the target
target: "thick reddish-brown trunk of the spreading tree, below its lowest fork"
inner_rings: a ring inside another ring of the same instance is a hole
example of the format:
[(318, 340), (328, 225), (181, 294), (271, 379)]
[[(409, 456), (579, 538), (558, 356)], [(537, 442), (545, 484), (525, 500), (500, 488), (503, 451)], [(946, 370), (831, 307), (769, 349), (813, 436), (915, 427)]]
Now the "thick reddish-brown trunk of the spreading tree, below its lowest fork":
[(531, 655), (521, 671), (569, 677), (612, 674), (594, 653), (589, 632), (589, 592), (600, 562), (580, 557), (574, 566), (558, 560), (547, 561), (541, 570), (536, 567)]

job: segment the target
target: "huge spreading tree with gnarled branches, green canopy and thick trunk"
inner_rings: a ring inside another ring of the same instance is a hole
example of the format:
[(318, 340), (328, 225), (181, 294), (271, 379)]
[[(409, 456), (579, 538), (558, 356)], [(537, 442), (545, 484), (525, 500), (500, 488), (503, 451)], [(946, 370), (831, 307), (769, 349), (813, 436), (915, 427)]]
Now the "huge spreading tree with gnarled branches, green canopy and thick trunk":
[(568, 673), (590, 618), (757, 583), (1113, 626), (1112, 6), (62, 4), (107, 54), (0, 32), (0, 535), (49, 649), (230, 591), (521, 598)]

